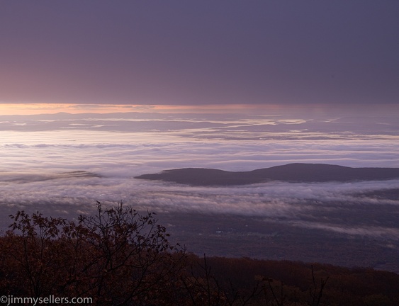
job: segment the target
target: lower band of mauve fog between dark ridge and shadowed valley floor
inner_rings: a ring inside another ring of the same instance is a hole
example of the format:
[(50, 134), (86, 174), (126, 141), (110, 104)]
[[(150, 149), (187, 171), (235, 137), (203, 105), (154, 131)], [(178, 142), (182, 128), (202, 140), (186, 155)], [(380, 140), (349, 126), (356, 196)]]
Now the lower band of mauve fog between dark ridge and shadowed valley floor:
[[(96, 200), (105, 205), (123, 201), (141, 210), (264, 217), (269, 222), (296, 227), (399, 239), (399, 199), (381, 196), (383, 191), (396, 189), (399, 189), (399, 180), (270, 182), (204, 188), (117, 177), (8, 179), (1, 182), (0, 206), (8, 211), (42, 208), (52, 215), (67, 212), (69, 217), (77, 217), (80, 213), (92, 212)], [(373, 191), (379, 191), (378, 196), (373, 196)], [(2, 222), (5, 220), (3, 217)]]

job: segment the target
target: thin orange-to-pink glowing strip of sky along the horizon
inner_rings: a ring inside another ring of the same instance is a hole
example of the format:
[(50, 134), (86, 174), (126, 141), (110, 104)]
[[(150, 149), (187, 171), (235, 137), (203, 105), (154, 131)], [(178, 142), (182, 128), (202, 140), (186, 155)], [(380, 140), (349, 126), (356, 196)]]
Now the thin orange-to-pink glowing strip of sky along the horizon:
[(208, 113), (208, 114), (257, 114), (291, 115), (301, 118), (314, 116), (392, 115), (399, 106), (325, 105), (325, 104), (214, 104), (214, 105), (134, 105), (134, 104), (77, 104), (77, 103), (0, 103), (0, 115), (41, 115), (55, 113)]

